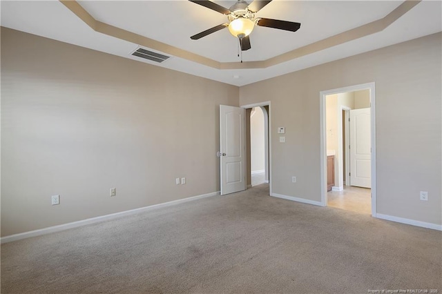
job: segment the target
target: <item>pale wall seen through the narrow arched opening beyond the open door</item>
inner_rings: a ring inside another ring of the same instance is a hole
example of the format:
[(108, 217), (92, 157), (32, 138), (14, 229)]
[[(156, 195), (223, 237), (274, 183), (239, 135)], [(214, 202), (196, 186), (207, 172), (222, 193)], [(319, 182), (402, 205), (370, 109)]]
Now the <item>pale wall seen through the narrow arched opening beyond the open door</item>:
[(252, 109), (250, 118), (251, 172), (265, 170), (264, 113), (260, 107)]

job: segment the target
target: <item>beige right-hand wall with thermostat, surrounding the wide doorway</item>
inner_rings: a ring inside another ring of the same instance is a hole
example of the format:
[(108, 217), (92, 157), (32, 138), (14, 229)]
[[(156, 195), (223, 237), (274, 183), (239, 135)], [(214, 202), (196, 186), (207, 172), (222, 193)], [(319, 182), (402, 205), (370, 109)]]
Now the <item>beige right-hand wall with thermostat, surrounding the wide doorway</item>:
[(286, 126), (286, 143), (271, 141), (273, 193), (320, 202), (319, 93), (375, 82), (377, 213), (442, 224), (441, 36), (241, 87), (241, 105), (271, 98), (273, 134)]

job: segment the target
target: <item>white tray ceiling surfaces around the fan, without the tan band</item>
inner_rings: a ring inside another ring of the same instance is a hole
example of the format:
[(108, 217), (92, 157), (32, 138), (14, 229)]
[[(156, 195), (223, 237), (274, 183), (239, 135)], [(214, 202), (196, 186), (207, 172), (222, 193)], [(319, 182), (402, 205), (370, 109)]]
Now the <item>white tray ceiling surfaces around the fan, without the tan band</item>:
[[(236, 1), (213, 1), (226, 8)], [(184, 49), (219, 62), (240, 62), (238, 41), (227, 29), (199, 40), (190, 36), (227, 22), (223, 14), (186, 0), (79, 1), (97, 21)], [(262, 61), (332, 37), (385, 17), (402, 1), (282, 1), (273, 0), (257, 17), (301, 23), (298, 32), (256, 27), (244, 61)], [(138, 44), (95, 32), (59, 1), (1, 1), (1, 26), (151, 63), (227, 84), (243, 86), (287, 72), (390, 46), (442, 30), (442, 1), (422, 1), (377, 32), (262, 69), (220, 70), (179, 57), (164, 63), (131, 56)], [(167, 55), (167, 54), (166, 54)]]

